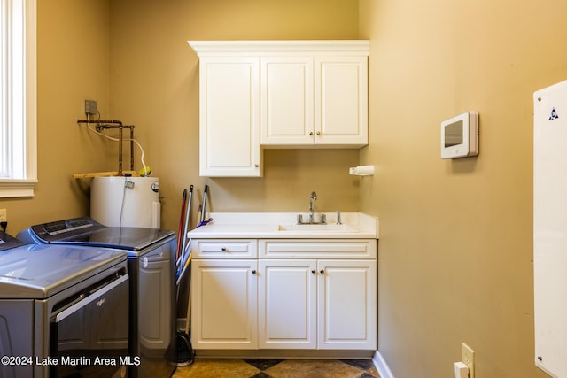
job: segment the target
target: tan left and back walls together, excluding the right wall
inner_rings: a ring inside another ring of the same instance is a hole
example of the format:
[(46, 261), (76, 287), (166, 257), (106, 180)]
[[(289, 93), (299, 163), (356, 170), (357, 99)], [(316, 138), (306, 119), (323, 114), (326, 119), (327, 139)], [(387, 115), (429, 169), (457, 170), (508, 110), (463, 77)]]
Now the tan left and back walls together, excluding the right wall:
[(357, 38), (352, 0), (39, 1), (39, 184), (34, 198), (0, 199), (9, 232), (87, 215), (89, 181), (72, 174), (117, 169), (117, 144), (76, 125), (85, 99), (97, 100), (103, 119), (136, 125), (165, 196), (164, 228), (177, 228), (190, 184), (194, 204), (209, 185), (217, 212), (305, 211), (311, 190), (318, 211), (358, 210), (359, 180), (347, 174), (358, 150), (268, 150), (263, 179), (198, 177), (198, 58), (186, 42)]

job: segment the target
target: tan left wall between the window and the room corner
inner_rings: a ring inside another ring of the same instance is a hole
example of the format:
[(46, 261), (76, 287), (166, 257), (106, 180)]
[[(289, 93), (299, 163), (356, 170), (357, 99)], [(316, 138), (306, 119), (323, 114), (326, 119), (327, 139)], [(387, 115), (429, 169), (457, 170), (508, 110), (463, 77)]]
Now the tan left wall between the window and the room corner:
[(0, 199), (8, 232), (89, 212), (89, 182), (74, 173), (107, 169), (106, 146), (76, 120), (84, 100), (108, 108), (108, 0), (37, 2), (35, 197)]

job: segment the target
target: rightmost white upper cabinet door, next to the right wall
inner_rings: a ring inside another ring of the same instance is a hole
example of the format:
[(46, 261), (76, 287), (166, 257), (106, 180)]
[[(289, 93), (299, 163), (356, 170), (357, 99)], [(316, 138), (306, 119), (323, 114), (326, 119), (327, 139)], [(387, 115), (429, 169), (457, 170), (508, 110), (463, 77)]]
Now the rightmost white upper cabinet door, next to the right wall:
[(315, 144), (369, 143), (368, 58), (315, 58)]

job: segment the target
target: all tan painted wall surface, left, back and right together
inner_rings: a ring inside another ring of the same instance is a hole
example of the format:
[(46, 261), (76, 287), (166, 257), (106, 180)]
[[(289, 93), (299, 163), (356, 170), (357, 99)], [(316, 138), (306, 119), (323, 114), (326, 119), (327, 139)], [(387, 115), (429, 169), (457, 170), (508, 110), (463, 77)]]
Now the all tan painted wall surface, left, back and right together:
[[(452, 376), (462, 342), (478, 377), (545, 376), (533, 365), (532, 92), (565, 79), (563, 2), (164, 4), (38, 2), (40, 183), (34, 198), (0, 200), (9, 231), (89, 212), (88, 184), (71, 175), (115, 167), (115, 146), (76, 125), (93, 98), (103, 117), (136, 124), (166, 228), (191, 183), (199, 196), (209, 184), (214, 211), (303, 211), (313, 189), (322, 211), (356, 211), (360, 193), (380, 217), (379, 350), (396, 377)], [(359, 37), (371, 40), (360, 163), (374, 177), (346, 174), (356, 150), (268, 150), (263, 179), (198, 177), (186, 40)], [(480, 113), (480, 156), (441, 160), (440, 120), (468, 109)]]

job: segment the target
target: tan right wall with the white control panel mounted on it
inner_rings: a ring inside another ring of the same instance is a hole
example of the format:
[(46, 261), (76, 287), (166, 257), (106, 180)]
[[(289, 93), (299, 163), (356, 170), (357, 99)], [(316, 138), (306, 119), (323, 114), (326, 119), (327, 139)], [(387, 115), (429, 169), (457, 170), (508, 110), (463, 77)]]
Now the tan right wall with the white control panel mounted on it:
[[(396, 377), (534, 366), (532, 93), (566, 79), (567, 4), (361, 0), (371, 40), (361, 209), (380, 217), (379, 350)], [(441, 160), (439, 122), (480, 114), (478, 158)]]

